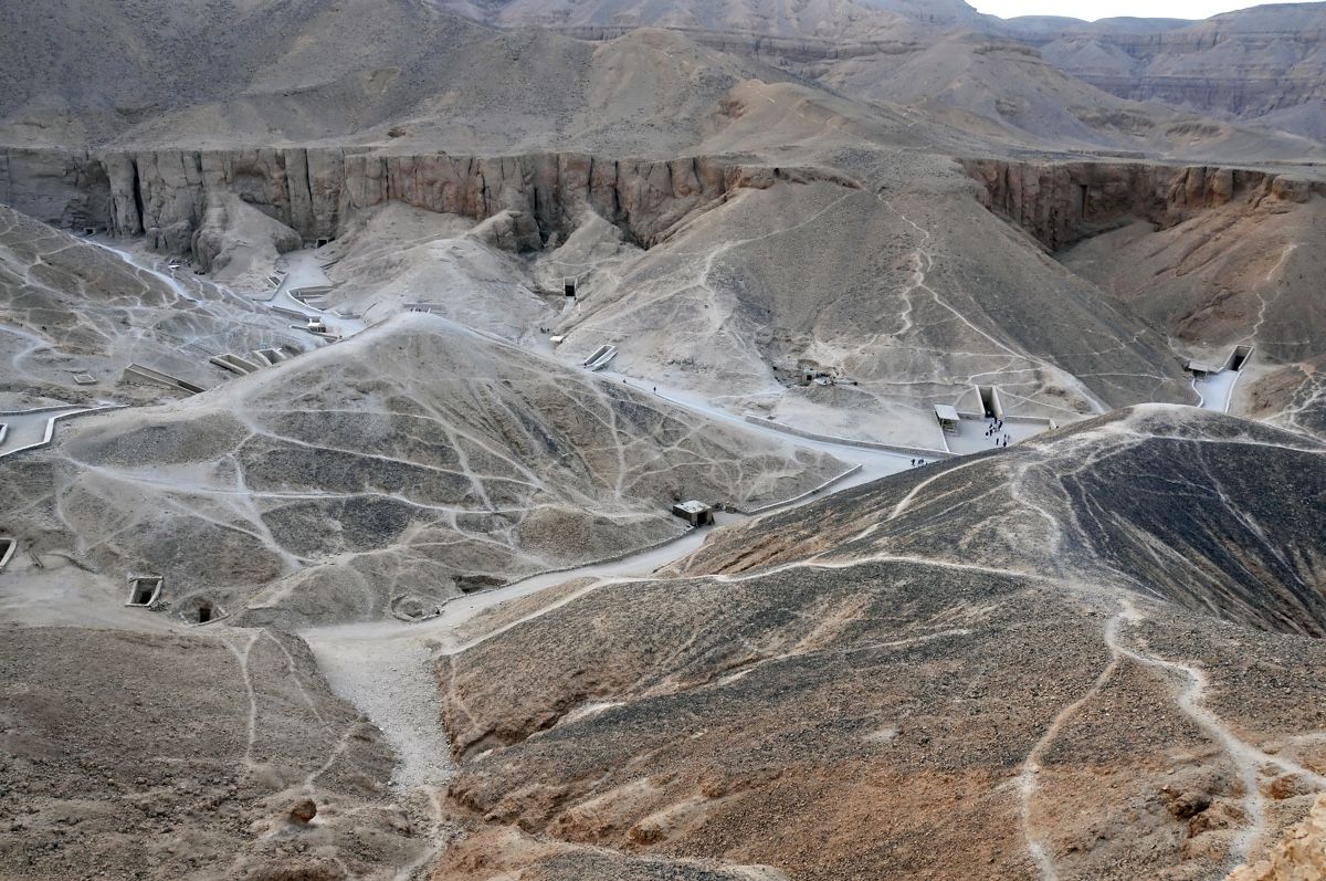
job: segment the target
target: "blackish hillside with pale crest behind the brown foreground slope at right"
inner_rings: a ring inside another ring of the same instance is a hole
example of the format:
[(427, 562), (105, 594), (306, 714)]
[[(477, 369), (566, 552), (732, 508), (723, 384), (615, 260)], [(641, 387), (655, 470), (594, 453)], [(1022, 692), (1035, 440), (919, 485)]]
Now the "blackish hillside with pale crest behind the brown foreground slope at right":
[[(871, 556), (961, 567), (961, 548), (979, 547), (985, 567), (1115, 584), (1248, 628), (1322, 637), (1321, 455), (1310, 438), (1205, 410), (1132, 407), (1016, 452), (941, 466), (924, 492), (859, 488), (842, 496), (851, 502), (842, 513), (798, 511), (728, 529), (679, 572)], [(1240, 467), (1252, 458), (1256, 470)], [(1302, 503), (1284, 506), (1260, 482), (1293, 483)], [(777, 540), (752, 540), (769, 529)]]

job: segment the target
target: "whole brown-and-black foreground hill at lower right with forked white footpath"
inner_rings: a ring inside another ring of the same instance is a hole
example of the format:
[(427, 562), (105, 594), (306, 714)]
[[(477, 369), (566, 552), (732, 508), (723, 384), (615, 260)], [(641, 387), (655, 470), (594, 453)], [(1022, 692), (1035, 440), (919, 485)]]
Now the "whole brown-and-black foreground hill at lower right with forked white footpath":
[(434, 878), (1220, 877), (1326, 787), (1321, 455), (1140, 410), (495, 620)]

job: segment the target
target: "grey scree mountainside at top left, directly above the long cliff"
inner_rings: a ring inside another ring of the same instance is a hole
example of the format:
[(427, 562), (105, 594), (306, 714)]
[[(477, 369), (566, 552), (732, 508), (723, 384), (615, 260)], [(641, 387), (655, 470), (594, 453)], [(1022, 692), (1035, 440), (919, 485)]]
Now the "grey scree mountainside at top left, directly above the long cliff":
[(675, 154), (723, 92), (786, 78), (679, 34), (601, 46), (420, 0), (58, 0), (0, 16), (8, 145), (414, 142), (492, 155), (546, 150), (556, 131), (557, 149)]

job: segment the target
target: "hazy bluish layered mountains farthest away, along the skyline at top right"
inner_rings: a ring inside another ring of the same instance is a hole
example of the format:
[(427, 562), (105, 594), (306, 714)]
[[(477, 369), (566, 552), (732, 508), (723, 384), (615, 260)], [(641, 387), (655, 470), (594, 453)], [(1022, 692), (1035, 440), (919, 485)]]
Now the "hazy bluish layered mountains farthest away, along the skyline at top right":
[[(448, 3), (461, 15), (500, 25), (536, 25), (577, 36), (615, 36), (634, 27), (668, 27), (700, 33), (751, 33), (765, 56), (801, 60), (886, 52), (923, 52), (935, 34), (971, 31), (1034, 46), (1041, 56), (1095, 88), (1134, 101), (1158, 100), (1224, 118), (1258, 119), (1307, 137), (1321, 137), (1326, 78), (1315, 46), (1326, 33), (1326, 4), (1268, 4), (1213, 16), (1181, 19), (1017, 17), (977, 13), (968, 4), (865, 0), (863, 8), (798, 8), (777, 4), (744, 16), (715, 16), (686, 7), (603, 7), (538, 0)], [(851, 4), (846, 4), (849, 8)], [(869, 9), (869, 12), (866, 12)], [(701, 37), (703, 38), (703, 37)], [(800, 40), (800, 42), (798, 42)], [(731, 44), (724, 48), (731, 48)]]

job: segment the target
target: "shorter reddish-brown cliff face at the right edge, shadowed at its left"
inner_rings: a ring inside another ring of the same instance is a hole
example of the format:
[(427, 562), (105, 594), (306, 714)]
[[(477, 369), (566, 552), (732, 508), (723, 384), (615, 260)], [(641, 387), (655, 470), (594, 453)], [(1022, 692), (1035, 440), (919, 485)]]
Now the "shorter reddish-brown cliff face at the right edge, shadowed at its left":
[(1175, 167), (1146, 163), (1025, 163), (969, 159), (967, 172), (981, 184), (987, 208), (1058, 251), (1122, 220), (1143, 218), (1158, 227), (1244, 200), (1249, 208), (1282, 210), (1326, 195), (1326, 184), (1241, 169)]

